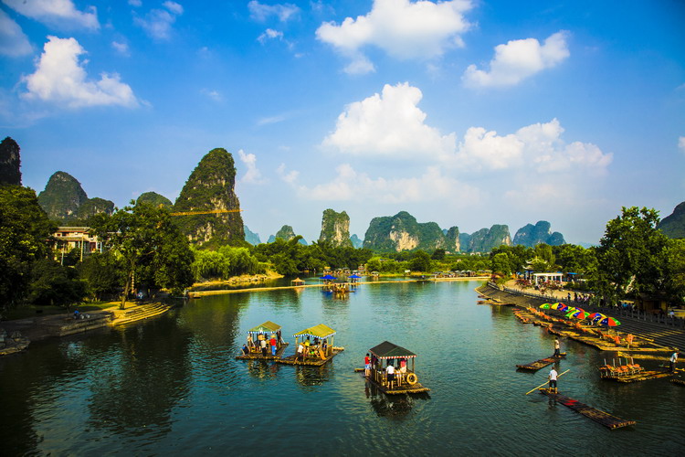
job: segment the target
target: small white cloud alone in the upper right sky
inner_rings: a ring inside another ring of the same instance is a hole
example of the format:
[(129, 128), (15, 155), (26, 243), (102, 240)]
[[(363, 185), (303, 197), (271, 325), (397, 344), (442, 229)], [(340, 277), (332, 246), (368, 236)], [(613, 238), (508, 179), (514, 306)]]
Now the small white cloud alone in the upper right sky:
[(461, 79), (469, 87), (513, 86), (543, 69), (550, 69), (568, 58), (568, 33), (560, 31), (544, 40), (516, 39), (495, 48), (490, 72), (469, 65)]

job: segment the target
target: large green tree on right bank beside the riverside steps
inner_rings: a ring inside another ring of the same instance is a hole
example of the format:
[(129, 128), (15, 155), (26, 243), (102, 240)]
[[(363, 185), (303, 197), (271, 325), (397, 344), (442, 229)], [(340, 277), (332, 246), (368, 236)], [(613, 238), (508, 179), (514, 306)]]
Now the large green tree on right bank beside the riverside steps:
[(595, 285), (608, 298), (665, 291), (668, 239), (658, 224), (659, 212), (646, 207), (623, 207), (606, 223), (596, 248)]

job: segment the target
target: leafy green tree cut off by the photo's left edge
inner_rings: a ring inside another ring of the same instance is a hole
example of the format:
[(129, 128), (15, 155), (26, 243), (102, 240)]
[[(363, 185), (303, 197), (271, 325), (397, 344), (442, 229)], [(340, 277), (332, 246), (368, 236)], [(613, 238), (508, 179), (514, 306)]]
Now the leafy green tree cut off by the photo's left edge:
[(0, 305), (14, 307), (25, 297), (30, 271), (50, 255), (57, 229), (36, 193), (21, 186), (0, 185)]

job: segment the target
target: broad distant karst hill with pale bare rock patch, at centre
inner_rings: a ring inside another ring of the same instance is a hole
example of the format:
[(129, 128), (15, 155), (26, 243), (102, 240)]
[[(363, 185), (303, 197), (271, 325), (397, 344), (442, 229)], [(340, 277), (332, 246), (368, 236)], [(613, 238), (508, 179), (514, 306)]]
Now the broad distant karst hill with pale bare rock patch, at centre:
[(364, 235), (364, 248), (371, 250), (436, 250), (448, 246), (435, 222), (418, 223), (401, 211), (392, 217), (373, 218)]

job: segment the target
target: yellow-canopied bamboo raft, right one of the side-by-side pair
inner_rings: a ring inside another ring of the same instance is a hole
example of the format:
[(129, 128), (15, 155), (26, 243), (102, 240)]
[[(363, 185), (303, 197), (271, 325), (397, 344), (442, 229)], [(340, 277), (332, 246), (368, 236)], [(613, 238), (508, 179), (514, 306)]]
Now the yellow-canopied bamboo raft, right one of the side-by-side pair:
[(344, 347), (333, 345), (335, 330), (326, 324), (305, 328), (293, 336), (295, 337), (295, 347), (297, 348), (295, 354), (279, 358), (277, 362), (288, 365), (321, 367), (321, 365), (345, 350)]

